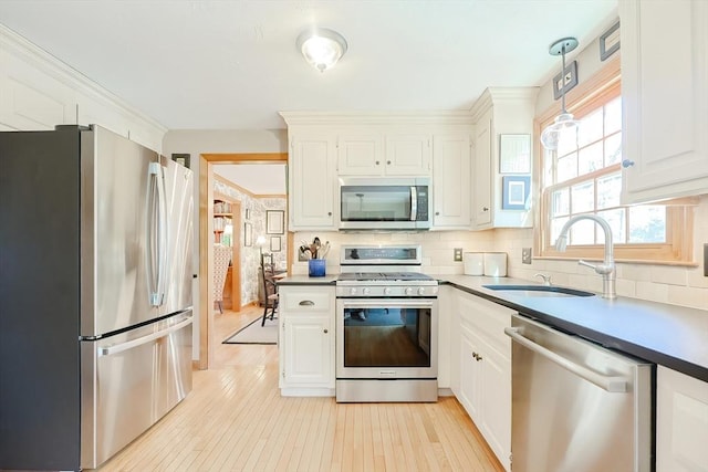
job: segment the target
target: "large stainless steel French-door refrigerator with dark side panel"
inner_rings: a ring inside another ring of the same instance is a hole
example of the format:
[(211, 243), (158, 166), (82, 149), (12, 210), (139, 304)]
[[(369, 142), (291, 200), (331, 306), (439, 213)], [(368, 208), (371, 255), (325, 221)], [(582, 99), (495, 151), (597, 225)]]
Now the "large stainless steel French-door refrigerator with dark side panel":
[(191, 171), (98, 126), (0, 166), (0, 469), (94, 469), (191, 390)]

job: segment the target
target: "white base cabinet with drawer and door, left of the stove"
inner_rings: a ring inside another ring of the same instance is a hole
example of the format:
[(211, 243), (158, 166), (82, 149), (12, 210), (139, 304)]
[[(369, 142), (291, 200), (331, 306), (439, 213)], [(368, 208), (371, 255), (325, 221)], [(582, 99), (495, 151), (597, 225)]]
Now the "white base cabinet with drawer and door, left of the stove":
[(280, 287), (283, 396), (334, 395), (334, 286)]

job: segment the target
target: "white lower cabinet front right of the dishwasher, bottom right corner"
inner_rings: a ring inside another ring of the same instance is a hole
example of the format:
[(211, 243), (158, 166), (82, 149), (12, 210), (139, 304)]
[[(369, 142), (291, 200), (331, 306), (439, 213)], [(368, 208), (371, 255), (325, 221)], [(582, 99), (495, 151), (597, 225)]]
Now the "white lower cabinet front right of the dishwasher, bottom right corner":
[(708, 471), (708, 382), (658, 366), (657, 472)]

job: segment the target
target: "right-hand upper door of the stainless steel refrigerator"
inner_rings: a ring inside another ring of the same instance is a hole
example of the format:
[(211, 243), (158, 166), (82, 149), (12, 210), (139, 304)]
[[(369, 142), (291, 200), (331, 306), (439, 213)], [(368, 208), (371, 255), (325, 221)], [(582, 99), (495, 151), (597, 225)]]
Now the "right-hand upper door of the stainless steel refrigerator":
[(194, 183), (191, 170), (160, 156), (165, 180), (167, 259), (164, 314), (191, 307)]

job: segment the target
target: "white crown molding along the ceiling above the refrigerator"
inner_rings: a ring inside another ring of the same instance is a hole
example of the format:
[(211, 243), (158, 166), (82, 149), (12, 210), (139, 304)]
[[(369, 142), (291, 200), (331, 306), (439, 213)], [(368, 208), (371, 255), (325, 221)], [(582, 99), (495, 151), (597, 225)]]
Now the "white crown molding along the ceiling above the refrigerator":
[(54, 57), (49, 52), (44, 51), (2, 23), (0, 23), (0, 50), (18, 56), (22, 61), (35, 66), (38, 70), (60, 81), (72, 90), (82, 92), (101, 102), (110, 103), (112, 106), (117, 107), (121, 112), (131, 116), (132, 119), (140, 120), (144, 124), (160, 130), (163, 134), (167, 133), (167, 127), (162, 123), (145, 115), (143, 112), (133, 107), (117, 95), (86, 77), (80, 71), (76, 71), (69, 64)]

